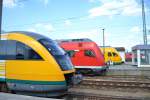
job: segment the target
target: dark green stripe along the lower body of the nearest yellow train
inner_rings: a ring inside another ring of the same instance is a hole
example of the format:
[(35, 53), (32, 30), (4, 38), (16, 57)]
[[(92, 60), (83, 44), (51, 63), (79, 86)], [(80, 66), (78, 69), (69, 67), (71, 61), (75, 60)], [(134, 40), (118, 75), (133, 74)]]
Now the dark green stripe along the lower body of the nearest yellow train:
[(16, 80), (6, 79), (8, 83), (20, 83), (20, 84), (37, 84), (37, 85), (66, 85), (66, 81), (31, 81), (31, 80)]

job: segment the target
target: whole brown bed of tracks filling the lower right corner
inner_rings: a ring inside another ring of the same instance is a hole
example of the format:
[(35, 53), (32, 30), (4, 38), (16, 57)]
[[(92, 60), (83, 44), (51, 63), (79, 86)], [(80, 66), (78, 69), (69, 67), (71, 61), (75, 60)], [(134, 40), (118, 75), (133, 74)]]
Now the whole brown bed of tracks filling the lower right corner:
[(85, 77), (67, 100), (150, 100), (150, 79), (137, 76)]

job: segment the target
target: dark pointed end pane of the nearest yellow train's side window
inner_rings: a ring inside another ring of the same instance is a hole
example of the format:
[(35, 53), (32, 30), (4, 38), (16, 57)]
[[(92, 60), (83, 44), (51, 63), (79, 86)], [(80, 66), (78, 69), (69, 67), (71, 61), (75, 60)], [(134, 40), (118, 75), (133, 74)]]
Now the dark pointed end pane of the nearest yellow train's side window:
[(42, 59), (31, 47), (17, 42), (16, 48), (16, 59), (25, 59), (25, 60), (40, 60)]

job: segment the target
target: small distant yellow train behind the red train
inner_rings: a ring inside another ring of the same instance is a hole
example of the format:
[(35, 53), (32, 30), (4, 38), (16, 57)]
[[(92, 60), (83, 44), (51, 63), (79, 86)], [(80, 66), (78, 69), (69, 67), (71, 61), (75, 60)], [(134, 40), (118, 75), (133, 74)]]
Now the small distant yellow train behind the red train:
[[(113, 47), (100, 47), (105, 57), (105, 63), (107, 64), (121, 64), (122, 58), (119, 52)], [(105, 53), (104, 53), (105, 50)]]

